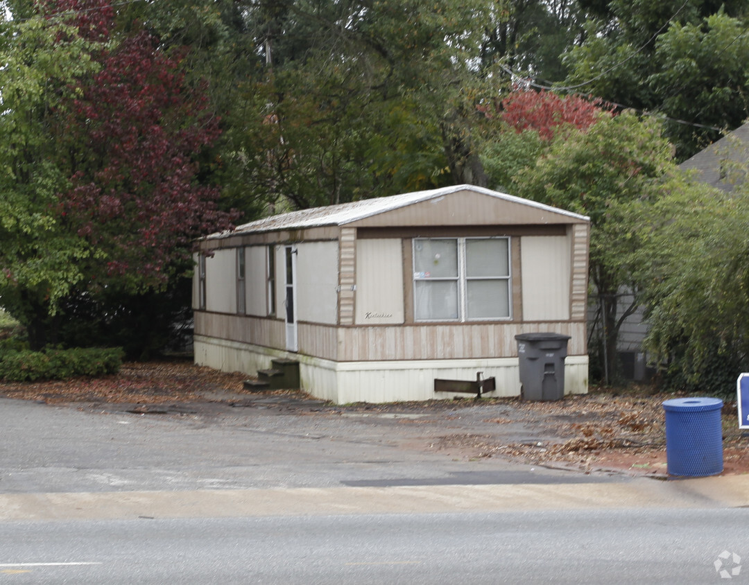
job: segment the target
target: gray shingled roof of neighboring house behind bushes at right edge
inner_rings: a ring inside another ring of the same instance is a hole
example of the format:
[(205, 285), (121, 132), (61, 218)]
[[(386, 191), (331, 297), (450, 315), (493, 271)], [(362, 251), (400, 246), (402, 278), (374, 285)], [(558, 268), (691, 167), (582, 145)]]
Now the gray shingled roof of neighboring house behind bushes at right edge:
[(724, 191), (731, 191), (745, 181), (749, 162), (749, 124), (739, 126), (703, 151), (679, 165), (684, 171), (695, 170), (700, 181)]

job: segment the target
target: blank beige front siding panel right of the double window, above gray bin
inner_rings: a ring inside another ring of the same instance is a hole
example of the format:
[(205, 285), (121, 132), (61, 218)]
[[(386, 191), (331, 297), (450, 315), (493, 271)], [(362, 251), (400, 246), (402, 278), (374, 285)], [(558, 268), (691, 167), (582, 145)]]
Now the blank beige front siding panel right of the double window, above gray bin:
[(525, 321), (569, 319), (570, 261), (567, 236), (526, 236), (521, 239)]

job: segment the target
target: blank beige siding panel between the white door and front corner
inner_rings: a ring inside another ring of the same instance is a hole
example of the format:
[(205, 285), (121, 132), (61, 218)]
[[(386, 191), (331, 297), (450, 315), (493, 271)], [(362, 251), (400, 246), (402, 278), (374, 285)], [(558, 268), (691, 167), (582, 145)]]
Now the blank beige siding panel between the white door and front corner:
[(337, 242), (297, 244), (297, 321), (336, 324), (338, 279)]

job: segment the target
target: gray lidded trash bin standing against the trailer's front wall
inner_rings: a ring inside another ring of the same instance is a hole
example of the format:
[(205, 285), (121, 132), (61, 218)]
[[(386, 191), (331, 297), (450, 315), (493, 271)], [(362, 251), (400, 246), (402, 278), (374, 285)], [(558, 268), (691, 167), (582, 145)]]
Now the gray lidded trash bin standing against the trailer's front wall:
[(564, 359), (568, 335), (521, 333), (518, 341), (521, 398), (560, 400), (564, 398)]

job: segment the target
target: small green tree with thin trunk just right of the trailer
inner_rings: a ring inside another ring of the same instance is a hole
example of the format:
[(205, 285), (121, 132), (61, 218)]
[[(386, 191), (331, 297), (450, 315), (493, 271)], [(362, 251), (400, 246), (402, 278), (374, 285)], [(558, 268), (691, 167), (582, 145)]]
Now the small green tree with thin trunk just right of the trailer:
[[(590, 217), (590, 282), (603, 332), (598, 342), (604, 375), (616, 372), (616, 340), (637, 308), (631, 253), (640, 245), (632, 206), (644, 210), (676, 172), (672, 147), (652, 119), (631, 112), (601, 119), (587, 131), (560, 135), (535, 167), (521, 174), (520, 195)], [(623, 290), (634, 303), (620, 306)]]

